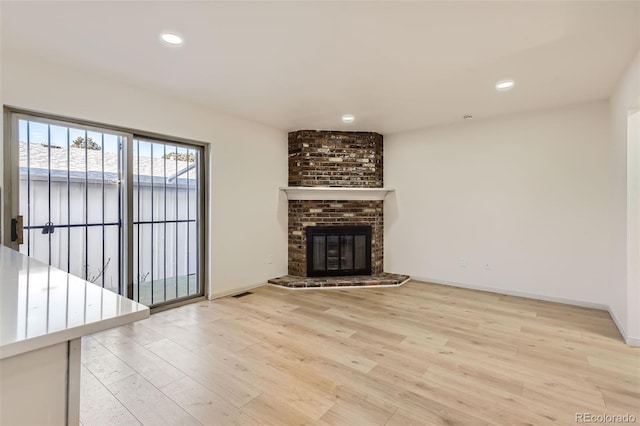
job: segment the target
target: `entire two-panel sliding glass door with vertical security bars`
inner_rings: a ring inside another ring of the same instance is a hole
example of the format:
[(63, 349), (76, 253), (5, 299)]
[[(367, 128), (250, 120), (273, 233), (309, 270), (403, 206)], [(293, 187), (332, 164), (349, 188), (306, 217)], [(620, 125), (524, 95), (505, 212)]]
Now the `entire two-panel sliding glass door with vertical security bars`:
[(202, 147), (19, 113), (10, 125), (5, 244), (148, 306), (204, 294)]

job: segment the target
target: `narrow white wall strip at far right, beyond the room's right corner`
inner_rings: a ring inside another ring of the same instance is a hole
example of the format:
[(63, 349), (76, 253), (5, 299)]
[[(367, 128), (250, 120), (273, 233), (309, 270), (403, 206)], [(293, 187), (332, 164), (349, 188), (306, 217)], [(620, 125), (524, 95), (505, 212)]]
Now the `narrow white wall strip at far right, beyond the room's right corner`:
[[(628, 117), (640, 108), (640, 53), (621, 76), (610, 102), (613, 153), (612, 253), (615, 264), (610, 285), (611, 312), (627, 341), (640, 346), (640, 206), (635, 191), (640, 176), (640, 141), (629, 138)], [(632, 129), (631, 129), (632, 130)], [(629, 185), (628, 185), (629, 183)]]

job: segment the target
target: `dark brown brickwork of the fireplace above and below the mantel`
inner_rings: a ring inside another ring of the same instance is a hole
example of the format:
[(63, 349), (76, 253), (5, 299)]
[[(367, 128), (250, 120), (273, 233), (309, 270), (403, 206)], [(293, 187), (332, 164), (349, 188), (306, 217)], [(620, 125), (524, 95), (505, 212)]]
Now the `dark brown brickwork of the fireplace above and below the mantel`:
[[(383, 187), (383, 138), (373, 132), (289, 133), (290, 187)], [(371, 226), (371, 269), (384, 267), (383, 201), (289, 200), (289, 275), (307, 276), (308, 226)]]

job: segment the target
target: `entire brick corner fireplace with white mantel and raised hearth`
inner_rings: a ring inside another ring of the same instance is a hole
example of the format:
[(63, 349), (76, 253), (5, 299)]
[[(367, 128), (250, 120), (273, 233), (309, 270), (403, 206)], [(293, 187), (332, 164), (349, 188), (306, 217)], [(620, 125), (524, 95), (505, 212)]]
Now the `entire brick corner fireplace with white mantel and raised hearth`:
[[(288, 276), (270, 280), (270, 283), (289, 285), (292, 280), (310, 285), (311, 280), (297, 278), (318, 276), (310, 274), (307, 258), (310, 247), (307, 234), (311, 227), (334, 229), (336, 227), (370, 227), (371, 276), (360, 279), (343, 279), (345, 285), (398, 284), (387, 282), (393, 274), (384, 274), (384, 210), (383, 199), (383, 137), (373, 132), (342, 132), (299, 130), (289, 133), (289, 187), (288, 205)], [(339, 241), (339, 260), (326, 263), (327, 276), (337, 275), (331, 265), (349, 265), (353, 259), (345, 248), (343, 238), (331, 236)], [(339, 238), (339, 240), (338, 240)], [(328, 244), (328, 239), (325, 240)], [(327, 254), (329, 255), (327, 249)], [(354, 251), (355, 253), (355, 251)], [(322, 274), (320, 274), (322, 275)], [(345, 274), (350, 275), (350, 274)], [(406, 279), (406, 276), (399, 276)], [(379, 279), (374, 279), (379, 278)], [(400, 279), (398, 278), (398, 279)], [(404, 280), (402, 279), (402, 280)], [(316, 280), (320, 286), (343, 285), (333, 280)]]

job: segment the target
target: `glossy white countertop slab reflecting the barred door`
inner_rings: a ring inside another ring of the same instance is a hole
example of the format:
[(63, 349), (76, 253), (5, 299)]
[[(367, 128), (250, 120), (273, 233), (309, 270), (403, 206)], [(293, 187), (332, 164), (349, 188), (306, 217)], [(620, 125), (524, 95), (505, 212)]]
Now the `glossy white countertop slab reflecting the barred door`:
[(0, 246), (0, 359), (149, 317), (149, 308)]

